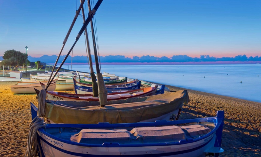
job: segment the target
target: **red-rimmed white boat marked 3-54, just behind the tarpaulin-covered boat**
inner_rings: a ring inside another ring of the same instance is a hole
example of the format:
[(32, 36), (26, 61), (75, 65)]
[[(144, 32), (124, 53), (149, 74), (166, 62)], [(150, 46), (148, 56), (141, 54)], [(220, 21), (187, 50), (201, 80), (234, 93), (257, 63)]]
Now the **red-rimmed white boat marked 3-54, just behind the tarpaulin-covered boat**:
[[(161, 90), (157, 90), (157, 87), (147, 87), (122, 93), (108, 93), (107, 100), (119, 100), (130, 97), (151, 96), (155, 94), (163, 94), (162, 92), (164, 93), (164, 87)], [(46, 99), (62, 101), (99, 101), (99, 97), (93, 97), (92, 94), (70, 94), (49, 91), (46, 91)]]

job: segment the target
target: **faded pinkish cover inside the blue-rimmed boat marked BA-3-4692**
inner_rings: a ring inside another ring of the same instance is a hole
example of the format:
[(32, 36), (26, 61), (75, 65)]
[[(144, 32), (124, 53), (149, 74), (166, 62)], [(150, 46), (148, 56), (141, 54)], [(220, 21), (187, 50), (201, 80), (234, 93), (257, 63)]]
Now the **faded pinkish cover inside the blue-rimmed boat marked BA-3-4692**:
[[(127, 129), (82, 129), (74, 132), (63, 131), (70, 141), (85, 144), (144, 144), (178, 142), (184, 139), (196, 139), (206, 135), (211, 129), (202, 125), (189, 126), (158, 126), (158, 127), (135, 127)], [(193, 136), (191, 136), (193, 134)]]

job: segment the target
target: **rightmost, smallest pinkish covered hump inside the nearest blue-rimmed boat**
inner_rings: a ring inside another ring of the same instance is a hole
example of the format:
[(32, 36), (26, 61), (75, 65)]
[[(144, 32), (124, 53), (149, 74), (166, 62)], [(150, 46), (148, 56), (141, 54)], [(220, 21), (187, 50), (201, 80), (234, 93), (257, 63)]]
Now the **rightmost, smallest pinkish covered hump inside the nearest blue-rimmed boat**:
[(185, 132), (187, 138), (198, 138), (211, 131), (207, 126), (202, 125), (188, 125), (182, 126), (181, 128)]

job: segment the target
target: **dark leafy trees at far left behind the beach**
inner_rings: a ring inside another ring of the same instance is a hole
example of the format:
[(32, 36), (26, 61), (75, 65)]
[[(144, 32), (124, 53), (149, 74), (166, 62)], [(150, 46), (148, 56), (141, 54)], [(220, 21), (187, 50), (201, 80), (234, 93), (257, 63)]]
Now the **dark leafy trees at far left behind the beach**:
[[(18, 71), (19, 67), (34, 67), (40, 69), (41, 61), (31, 62), (28, 60), (28, 55), (20, 51), (7, 50), (4, 52), (2, 57), (4, 60), (1, 61), (1, 65), (5, 67), (14, 67), (14, 70)], [(27, 64), (27, 65), (26, 65)]]

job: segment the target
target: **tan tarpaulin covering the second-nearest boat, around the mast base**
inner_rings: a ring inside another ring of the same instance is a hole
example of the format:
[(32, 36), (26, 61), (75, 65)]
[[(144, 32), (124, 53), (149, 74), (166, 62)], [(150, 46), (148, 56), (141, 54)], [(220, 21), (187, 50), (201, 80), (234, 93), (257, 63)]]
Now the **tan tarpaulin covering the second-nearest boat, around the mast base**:
[(160, 117), (182, 108), (189, 97), (187, 90), (140, 98), (108, 101), (101, 107), (98, 101), (51, 101), (46, 100), (45, 117), (54, 123), (97, 124), (136, 123)]

